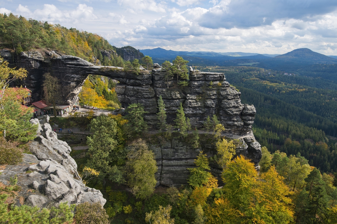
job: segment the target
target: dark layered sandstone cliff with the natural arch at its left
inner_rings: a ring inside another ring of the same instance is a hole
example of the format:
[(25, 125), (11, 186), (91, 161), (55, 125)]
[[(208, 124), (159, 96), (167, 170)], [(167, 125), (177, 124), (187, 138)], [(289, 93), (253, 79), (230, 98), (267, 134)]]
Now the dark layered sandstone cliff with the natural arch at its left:
[[(243, 144), (237, 148), (237, 154), (243, 154), (251, 159), (258, 169), (262, 153), (260, 144), (252, 134), (252, 124), (256, 114), (255, 107), (241, 103), (241, 93), (226, 82), (223, 73), (200, 72), (191, 68), (188, 86), (178, 88), (171, 79), (167, 89), (162, 68), (142, 71), (142, 74), (135, 75), (124, 72), (123, 68), (94, 65), (82, 58), (60, 55), (55, 51), (46, 49), (21, 52), (20, 55), (14, 54), (9, 49), (2, 49), (0, 54), (12, 66), (25, 68), (28, 71), (28, 77), (20, 84), (26, 85), (32, 91), (35, 101), (40, 99), (42, 76), (46, 72), (50, 72), (61, 80), (62, 91), (60, 95), (63, 102), (60, 102), (60, 104), (70, 105), (78, 97), (88, 75), (101, 75), (119, 81), (115, 91), (124, 108), (130, 103), (142, 103), (144, 105), (145, 110), (148, 111), (144, 119), (150, 126), (155, 127), (158, 122), (156, 118), (157, 99), (160, 95), (165, 103), (168, 123), (173, 123), (180, 103), (183, 103), (186, 117), (190, 119), (193, 127), (202, 127), (207, 116), (212, 117), (217, 114), (226, 132), (244, 135), (239, 138)], [(221, 85), (218, 85), (218, 83), (221, 83)], [(164, 147), (164, 150), (162, 147)], [(157, 149), (152, 148), (157, 151), (155, 154), (158, 168), (160, 168), (158, 172), (163, 174), (163, 163), (170, 161), (167, 163), (168, 166), (172, 165), (172, 170), (167, 170), (167, 175), (184, 173), (186, 167), (193, 165), (193, 160), (197, 154), (194, 149), (188, 147), (181, 143), (171, 142), (167, 146), (160, 146)], [(164, 155), (166, 149), (167, 153)], [(158, 154), (159, 151), (160, 155)], [(214, 149), (210, 148), (208, 153), (214, 154)], [(167, 161), (165, 162), (165, 160)], [(177, 168), (177, 166), (182, 167)], [(213, 174), (219, 173), (216, 170), (218, 168), (213, 167), (212, 169), (214, 169)], [(158, 181), (161, 183), (161, 180)], [(170, 185), (173, 182), (174, 184), (180, 184), (170, 178), (163, 180), (162, 184)]]

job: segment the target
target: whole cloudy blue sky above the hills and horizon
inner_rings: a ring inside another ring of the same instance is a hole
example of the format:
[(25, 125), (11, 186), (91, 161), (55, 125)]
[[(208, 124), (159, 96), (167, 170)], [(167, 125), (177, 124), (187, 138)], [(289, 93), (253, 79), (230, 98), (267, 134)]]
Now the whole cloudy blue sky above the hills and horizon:
[(10, 12), (116, 47), (337, 55), (336, 0), (0, 0), (0, 13)]

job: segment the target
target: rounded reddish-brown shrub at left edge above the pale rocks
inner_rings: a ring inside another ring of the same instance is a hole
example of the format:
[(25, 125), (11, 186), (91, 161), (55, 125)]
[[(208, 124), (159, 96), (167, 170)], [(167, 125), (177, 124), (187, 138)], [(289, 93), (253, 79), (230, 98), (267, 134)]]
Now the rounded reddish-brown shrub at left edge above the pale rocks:
[(22, 161), (23, 150), (13, 142), (0, 137), (0, 165), (15, 165)]

